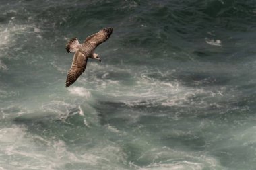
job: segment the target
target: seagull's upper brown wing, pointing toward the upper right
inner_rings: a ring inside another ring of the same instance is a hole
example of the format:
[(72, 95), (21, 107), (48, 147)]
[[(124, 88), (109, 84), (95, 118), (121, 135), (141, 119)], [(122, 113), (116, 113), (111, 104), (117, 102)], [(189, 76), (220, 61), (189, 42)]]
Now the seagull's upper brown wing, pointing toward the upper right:
[(88, 36), (88, 38), (86, 38), (86, 40), (84, 40), (84, 43), (88, 42), (94, 48), (96, 48), (102, 42), (105, 42), (106, 40), (108, 40), (108, 38), (111, 36), (112, 32), (113, 32), (113, 28), (110, 28), (110, 27), (103, 28), (98, 33)]

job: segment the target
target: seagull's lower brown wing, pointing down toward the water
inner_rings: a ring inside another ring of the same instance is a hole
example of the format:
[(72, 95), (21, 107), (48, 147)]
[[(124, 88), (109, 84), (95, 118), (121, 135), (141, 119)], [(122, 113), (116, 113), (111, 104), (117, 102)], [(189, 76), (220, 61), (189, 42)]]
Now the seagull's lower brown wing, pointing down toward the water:
[(72, 85), (86, 69), (88, 57), (81, 52), (75, 52), (72, 66), (67, 73), (66, 87)]

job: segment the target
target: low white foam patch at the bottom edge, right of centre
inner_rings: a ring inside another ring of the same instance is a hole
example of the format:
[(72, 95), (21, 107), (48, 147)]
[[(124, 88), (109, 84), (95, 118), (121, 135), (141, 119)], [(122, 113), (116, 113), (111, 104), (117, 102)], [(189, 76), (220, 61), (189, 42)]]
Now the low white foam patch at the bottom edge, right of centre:
[[(141, 170), (148, 169), (179, 169), (179, 170), (201, 170), (201, 169), (221, 169), (222, 167), (216, 159), (208, 157), (203, 153), (184, 152), (168, 147), (154, 148), (146, 151), (139, 159), (150, 161), (149, 165), (138, 166), (130, 163), (131, 167), (136, 167)], [(161, 161), (158, 161), (161, 160)]]

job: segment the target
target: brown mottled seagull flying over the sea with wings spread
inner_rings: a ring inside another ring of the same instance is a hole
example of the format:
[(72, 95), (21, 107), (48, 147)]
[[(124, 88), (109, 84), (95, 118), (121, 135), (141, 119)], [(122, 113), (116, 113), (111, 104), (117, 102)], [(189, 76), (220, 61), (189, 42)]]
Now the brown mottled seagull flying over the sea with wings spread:
[(88, 36), (82, 44), (77, 38), (71, 38), (66, 44), (68, 53), (75, 52), (71, 68), (67, 73), (66, 87), (72, 85), (86, 69), (88, 58), (96, 59), (101, 62), (98, 54), (94, 52), (95, 48), (102, 42), (108, 40), (113, 32), (113, 28), (103, 28), (98, 33)]

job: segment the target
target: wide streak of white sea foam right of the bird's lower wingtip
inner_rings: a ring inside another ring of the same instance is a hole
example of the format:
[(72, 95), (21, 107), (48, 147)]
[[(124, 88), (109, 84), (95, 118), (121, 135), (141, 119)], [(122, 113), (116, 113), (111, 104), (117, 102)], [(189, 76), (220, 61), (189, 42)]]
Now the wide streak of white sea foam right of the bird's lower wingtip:
[[(112, 101), (122, 102), (128, 106), (135, 105), (162, 105), (162, 106), (188, 106), (195, 105), (199, 108), (205, 108), (210, 105), (205, 99), (210, 97), (221, 97), (222, 90), (216, 92), (208, 91), (205, 88), (195, 88), (195, 87), (185, 87), (179, 81), (164, 81), (151, 77), (150, 75), (160, 75), (160, 77), (169, 77), (172, 73), (175, 73), (176, 70), (170, 71), (159, 71), (146, 68), (143, 71), (137, 74), (129, 69), (118, 69), (113, 71), (112, 67), (109, 65), (106, 67), (98, 66), (94, 64), (95, 67), (92, 67), (92, 73), (98, 73), (98, 69), (102, 71), (102, 76), (98, 77), (96, 75), (90, 75), (82, 79), (85, 83), (89, 83), (87, 88), (90, 91), (100, 91), (102, 95), (107, 96), (109, 99), (111, 97)], [(104, 70), (110, 69), (110, 71), (104, 73)], [(121, 80), (113, 80), (112, 77), (109, 77), (110, 72), (120, 72), (120, 73), (129, 73), (135, 79), (135, 84), (133, 87), (129, 87), (123, 84)], [(207, 81), (207, 80), (203, 80)], [(194, 100), (193, 98), (200, 97), (199, 100)], [(102, 98), (104, 99), (104, 98)], [(214, 104), (214, 103), (211, 103)]]

